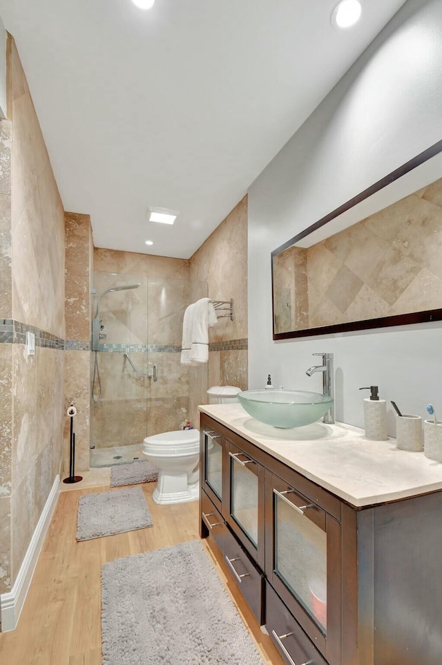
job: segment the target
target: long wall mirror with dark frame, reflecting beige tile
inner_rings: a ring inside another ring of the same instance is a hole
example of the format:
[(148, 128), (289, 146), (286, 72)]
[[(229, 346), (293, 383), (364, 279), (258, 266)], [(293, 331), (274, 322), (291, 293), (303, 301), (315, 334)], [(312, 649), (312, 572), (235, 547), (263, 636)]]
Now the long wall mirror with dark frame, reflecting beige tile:
[(442, 140), (271, 262), (273, 339), (442, 319)]

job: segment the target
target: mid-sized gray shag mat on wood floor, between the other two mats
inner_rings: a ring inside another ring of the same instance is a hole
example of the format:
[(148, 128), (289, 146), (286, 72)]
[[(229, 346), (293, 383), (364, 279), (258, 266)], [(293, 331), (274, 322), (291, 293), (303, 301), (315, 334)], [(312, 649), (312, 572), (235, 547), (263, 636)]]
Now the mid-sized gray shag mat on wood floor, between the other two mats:
[(141, 487), (115, 489), (80, 496), (77, 541), (112, 536), (152, 526), (152, 516)]

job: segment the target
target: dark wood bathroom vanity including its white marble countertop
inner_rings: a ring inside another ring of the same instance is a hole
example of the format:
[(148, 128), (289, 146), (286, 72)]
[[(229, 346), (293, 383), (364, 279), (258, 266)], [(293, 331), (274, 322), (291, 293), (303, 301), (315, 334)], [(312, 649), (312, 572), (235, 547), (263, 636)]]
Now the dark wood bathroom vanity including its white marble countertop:
[(442, 464), (240, 404), (200, 406), (200, 446), (200, 536), (287, 664), (441, 664)]

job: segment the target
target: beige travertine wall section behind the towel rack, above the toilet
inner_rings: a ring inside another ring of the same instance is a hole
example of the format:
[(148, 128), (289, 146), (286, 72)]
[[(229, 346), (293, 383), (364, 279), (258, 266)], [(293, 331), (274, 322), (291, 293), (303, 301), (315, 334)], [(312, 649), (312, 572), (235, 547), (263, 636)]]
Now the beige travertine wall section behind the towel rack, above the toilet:
[[(209, 335), (209, 386), (247, 388), (247, 196), (193, 254), (191, 281), (206, 281), (213, 300), (234, 300), (234, 319), (219, 319)], [(198, 368), (197, 368), (198, 369)], [(263, 379), (264, 380), (264, 379)], [(196, 406), (206, 403), (199, 391)], [(191, 395), (192, 397), (192, 395)], [(201, 401), (202, 400), (202, 401)]]

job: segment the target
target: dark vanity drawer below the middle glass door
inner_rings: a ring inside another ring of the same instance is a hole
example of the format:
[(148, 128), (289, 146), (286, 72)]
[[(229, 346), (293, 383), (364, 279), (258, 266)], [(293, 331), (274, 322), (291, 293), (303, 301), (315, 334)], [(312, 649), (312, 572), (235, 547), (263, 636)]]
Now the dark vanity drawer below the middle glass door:
[(235, 536), (227, 529), (224, 536), (224, 563), (246, 599), (253, 614), (262, 624), (264, 577)]

